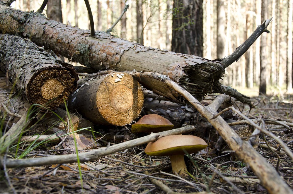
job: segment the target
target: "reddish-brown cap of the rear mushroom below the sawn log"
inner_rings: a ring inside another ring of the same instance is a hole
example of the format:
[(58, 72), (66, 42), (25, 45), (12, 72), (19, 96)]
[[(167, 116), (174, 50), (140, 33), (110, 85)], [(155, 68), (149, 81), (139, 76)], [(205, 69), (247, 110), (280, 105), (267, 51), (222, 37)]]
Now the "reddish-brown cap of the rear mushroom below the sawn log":
[(142, 132), (161, 132), (167, 131), (173, 128), (173, 124), (164, 117), (158, 114), (147, 114), (140, 118), (136, 123), (132, 124), (132, 133)]

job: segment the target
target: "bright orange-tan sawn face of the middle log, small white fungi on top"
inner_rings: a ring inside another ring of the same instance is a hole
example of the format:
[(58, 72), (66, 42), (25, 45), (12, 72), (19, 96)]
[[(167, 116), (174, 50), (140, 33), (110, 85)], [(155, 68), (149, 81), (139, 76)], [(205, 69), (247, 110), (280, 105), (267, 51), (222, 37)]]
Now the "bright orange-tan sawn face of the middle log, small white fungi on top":
[(101, 116), (110, 124), (123, 126), (138, 117), (144, 96), (131, 75), (114, 73), (101, 82), (96, 99)]

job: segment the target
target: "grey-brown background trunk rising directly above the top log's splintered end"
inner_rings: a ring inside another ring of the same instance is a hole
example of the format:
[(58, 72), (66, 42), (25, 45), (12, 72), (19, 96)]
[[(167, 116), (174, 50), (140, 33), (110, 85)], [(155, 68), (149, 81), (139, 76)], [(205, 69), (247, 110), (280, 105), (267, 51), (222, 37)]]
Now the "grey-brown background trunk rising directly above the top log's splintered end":
[(217, 58), (225, 57), (225, 7), (224, 0), (217, 0)]

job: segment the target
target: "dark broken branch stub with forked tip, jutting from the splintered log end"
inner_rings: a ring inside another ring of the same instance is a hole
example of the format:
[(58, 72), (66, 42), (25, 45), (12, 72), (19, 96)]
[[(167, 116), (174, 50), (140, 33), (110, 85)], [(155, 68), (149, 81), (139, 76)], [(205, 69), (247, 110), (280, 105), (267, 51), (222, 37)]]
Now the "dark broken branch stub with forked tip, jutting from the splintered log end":
[(224, 68), (227, 68), (229, 65), (231, 65), (232, 63), (234, 63), (234, 61), (238, 61), (240, 59), (240, 57), (251, 47), (251, 45), (253, 44), (253, 42), (255, 42), (255, 40), (263, 33), (263, 32), (270, 32), (267, 30), (268, 25), (270, 24), (272, 18), (267, 19), (263, 22), (263, 24), (259, 25), (254, 32), (252, 33), (252, 35), (250, 35), (250, 37), (248, 37), (248, 39), (243, 42), (238, 48), (236, 48), (236, 50), (230, 54), (229, 56), (227, 56), (226, 58), (224, 58), (221, 63), (222, 66)]

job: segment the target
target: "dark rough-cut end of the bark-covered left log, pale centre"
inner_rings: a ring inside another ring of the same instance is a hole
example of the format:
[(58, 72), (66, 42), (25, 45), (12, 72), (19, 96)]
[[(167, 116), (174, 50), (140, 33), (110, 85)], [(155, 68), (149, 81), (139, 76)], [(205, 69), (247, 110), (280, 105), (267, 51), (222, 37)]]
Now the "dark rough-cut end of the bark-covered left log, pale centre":
[(44, 70), (29, 84), (28, 100), (54, 110), (68, 99), (76, 85), (76, 79), (65, 69)]

